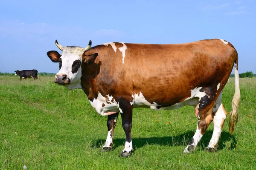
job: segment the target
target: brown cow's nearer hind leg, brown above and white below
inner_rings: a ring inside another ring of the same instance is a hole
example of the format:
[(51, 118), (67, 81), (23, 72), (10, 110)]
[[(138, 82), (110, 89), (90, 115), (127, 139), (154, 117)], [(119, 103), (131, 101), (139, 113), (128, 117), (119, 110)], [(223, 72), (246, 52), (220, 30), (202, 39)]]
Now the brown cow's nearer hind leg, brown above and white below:
[(189, 144), (183, 151), (183, 153), (191, 153), (195, 150), (198, 142), (204, 135), (208, 126), (213, 120), (212, 109), (214, 106), (214, 100), (211, 99), (208, 95), (201, 98), (198, 105), (198, 125), (195, 135), (190, 140)]

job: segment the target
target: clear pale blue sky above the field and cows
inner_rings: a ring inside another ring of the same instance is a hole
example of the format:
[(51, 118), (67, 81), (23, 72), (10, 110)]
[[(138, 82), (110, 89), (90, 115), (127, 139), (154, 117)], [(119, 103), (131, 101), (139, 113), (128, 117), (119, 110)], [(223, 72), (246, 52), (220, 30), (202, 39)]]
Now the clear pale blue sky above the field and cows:
[(221, 38), (256, 73), (255, 0), (1, 0), (0, 71), (58, 72), (46, 53), (105, 42), (170, 44)]

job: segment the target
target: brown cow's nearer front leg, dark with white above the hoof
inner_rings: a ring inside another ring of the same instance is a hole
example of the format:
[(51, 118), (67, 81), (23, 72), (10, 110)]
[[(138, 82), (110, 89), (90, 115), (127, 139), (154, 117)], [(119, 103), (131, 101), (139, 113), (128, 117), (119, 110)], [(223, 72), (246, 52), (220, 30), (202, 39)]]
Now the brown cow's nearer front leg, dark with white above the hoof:
[(132, 142), (131, 142), (131, 127), (132, 127), (132, 108), (122, 109), (122, 127), (125, 131), (125, 149), (122, 150), (122, 153), (119, 156), (128, 157), (131, 156), (132, 151)]

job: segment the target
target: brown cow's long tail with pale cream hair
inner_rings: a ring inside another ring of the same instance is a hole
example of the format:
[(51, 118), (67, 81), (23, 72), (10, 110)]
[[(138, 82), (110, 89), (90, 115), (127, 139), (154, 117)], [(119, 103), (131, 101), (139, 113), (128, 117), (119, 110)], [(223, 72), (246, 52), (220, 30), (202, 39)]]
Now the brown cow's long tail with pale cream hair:
[(235, 60), (235, 94), (232, 100), (232, 111), (230, 112), (229, 118), (229, 130), (232, 135), (234, 130), (234, 125), (236, 125), (238, 121), (238, 105), (240, 100), (240, 89), (239, 89), (239, 74), (238, 74), (238, 54), (236, 52), (236, 60)]

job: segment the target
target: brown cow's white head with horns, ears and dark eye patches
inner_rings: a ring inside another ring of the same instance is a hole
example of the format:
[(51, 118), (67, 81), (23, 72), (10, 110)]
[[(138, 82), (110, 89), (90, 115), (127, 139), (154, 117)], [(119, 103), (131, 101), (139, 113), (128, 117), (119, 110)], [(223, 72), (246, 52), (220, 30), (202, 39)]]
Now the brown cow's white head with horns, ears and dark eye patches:
[(91, 47), (91, 40), (87, 47), (81, 48), (77, 46), (67, 46), (63, 47), (55, 40), (56, 46), (62, 51), (62, 55), (57, 51), (48, 51), (47, 56), (52, 60), (52, 62), (59, 62), (60, 70), (55, 75), (54, 82), (58, 85), (64, 85), (68, 89), (82, 88), (81, 87), (81, 63), (94, 62), (97, 57), (87, 57), (89, 59), (82, 58), (85, 51), (89, 50)]

